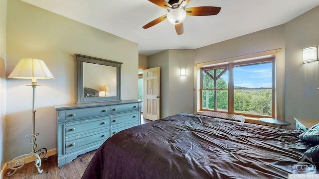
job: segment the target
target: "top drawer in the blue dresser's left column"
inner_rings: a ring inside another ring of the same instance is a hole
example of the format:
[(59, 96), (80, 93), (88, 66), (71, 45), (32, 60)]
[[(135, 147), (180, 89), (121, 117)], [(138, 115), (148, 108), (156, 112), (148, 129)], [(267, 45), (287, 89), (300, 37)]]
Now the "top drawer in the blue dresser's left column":
[(89, 118), (95, 116), (102, 116), (110, 114), (110, 106), (102, 106), (102, 107), (88, 107), (81, 109), (72, 109), (66, 110), (65, 119), (66, 120), (75, 120), (82, 118)]

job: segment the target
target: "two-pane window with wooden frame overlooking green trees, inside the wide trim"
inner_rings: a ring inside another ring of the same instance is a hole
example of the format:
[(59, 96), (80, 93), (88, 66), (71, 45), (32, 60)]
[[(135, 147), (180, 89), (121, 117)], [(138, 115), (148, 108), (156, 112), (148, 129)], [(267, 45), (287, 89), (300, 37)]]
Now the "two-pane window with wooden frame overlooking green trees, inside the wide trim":
[(274, 58), (201, 68), (201, 110), (275, 117)]

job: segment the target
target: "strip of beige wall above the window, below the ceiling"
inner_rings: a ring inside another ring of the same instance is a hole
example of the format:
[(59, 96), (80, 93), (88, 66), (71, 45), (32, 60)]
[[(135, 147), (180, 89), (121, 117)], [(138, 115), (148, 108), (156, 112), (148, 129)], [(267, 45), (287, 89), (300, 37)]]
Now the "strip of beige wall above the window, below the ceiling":
[(279, 25), (195, 50), (195, 64), (285, 49), (285, 25)]

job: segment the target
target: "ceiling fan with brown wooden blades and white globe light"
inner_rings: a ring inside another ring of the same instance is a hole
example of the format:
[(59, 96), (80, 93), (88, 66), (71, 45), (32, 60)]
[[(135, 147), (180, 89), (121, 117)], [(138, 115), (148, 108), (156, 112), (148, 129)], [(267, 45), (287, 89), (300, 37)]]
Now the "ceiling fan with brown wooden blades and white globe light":
[(216, 15), (220, 11), (220, 7), (213, 6), (200, 6), (200, 7), (189, 7), (185, 8), (186, 4), (190, 0), (149, 0), (160, 7), (167, 9), (168, 13), (160, 16), (159, 18), (149, 22), (144, 25), (143, 28), (147, 29), (160, 23), (166, 18), (168, 21), (175, 25), (175, 30), (177, 35), (181, 35), (184, 32), (183, 20), (185, 20), (186, 15), (204, 16), (204, 15)]

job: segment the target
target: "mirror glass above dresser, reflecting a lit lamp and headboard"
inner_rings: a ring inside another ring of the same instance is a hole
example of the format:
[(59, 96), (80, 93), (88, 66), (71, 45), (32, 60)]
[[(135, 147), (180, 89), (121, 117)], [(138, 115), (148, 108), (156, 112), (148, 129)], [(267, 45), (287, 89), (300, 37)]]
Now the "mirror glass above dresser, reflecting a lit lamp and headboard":
[(84, 97), (117, 96), (117, 68), (83, 63)]

